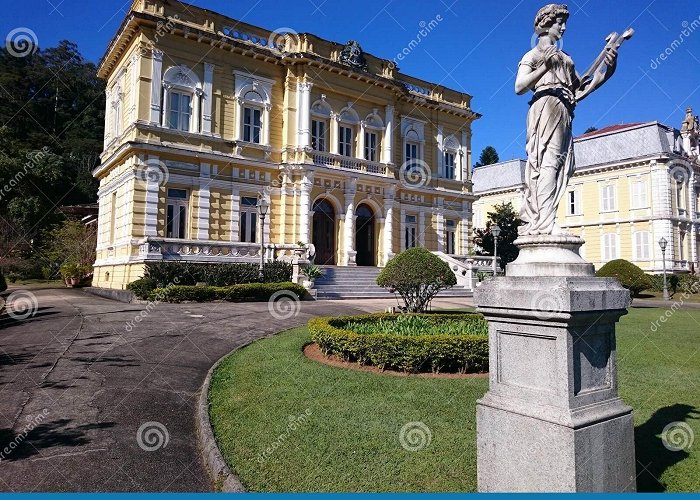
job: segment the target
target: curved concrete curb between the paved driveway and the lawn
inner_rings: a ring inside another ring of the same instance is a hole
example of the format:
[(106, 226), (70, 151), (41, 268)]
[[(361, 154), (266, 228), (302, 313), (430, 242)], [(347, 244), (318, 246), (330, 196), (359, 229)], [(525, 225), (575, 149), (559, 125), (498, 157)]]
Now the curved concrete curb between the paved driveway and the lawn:
[(215, 489), (229, 493), (242, 493), (245, 492), (245, 487), (238, 480), (238, 477), (231, 472), (228, 465), (226, 465), (226, 461), (216, 444), (214, 430), (211, 428), (211, 422), (209, 421), (209, 385), (211, 384), (211, 376), (219, 364), (229, 357), (232, 352), (226, 354), (214, 363), (214, 366), (209, 368), (207, 376), (204, 379), (199, 393), (199, 402), (197, 404), (197, 435), (201, 445), (200, 450), (204, 458), (204, 464), (209, 471), (212, 481), (214, 481)]

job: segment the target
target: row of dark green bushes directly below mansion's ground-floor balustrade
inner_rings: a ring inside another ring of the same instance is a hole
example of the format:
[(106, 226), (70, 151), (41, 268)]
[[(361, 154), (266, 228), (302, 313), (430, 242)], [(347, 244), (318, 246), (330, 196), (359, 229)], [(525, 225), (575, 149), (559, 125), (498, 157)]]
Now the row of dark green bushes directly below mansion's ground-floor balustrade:
[[(227, 264), (202, 264), (194, 262), (157, 262), (146, 264), (146, 277), (159, 286), (168, 284), (230, 286), (241, 283), (259, 283), (258, 264), (237, 262)], [(266, 262), (263, 265), (263, 282), (279, 283), (292, 279), (292, 265), (288, 262)]]

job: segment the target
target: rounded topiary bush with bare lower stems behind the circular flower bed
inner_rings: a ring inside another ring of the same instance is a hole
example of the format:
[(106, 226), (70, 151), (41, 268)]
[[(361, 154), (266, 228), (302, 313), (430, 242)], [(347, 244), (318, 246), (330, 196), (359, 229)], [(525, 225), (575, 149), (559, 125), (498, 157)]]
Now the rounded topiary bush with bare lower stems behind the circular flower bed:
[(423, 247), (396, 255), (377, 276), (377, 285), (397, 292), (408, 312), (425, 311), (438, 292), (456, 284), (450, 266)]

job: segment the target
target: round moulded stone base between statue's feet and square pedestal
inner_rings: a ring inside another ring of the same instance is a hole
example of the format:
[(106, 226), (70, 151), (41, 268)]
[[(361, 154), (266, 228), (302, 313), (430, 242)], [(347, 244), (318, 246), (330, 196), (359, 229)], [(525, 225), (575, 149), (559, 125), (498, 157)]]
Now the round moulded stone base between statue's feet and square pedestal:
[(542, 234), (515, 240), (518, 258), (506, 266), (508, 276), (594, 276), (595, 268), (581, 258), (585, 241), (573, 235)]

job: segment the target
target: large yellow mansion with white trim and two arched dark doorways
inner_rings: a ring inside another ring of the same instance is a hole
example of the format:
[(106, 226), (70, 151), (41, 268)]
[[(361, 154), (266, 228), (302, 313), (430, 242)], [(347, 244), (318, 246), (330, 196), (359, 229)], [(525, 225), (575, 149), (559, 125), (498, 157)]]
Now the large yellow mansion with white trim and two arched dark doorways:
[(467, 94), (357, 42), (164, 0), (132, 3), (98, 74), (94, 286), (123, 288), (164, 259), (288, 258), (299, 242), (340, 266), (416, 245), (468, 253), (480, 115)]

